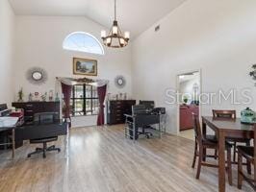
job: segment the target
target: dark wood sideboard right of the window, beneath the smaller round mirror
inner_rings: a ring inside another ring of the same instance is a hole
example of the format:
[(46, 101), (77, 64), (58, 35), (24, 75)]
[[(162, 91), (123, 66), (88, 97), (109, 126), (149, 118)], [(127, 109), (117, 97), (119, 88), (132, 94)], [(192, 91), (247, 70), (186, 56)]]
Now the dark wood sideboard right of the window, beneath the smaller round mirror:
[(112, 100), (107, 102), (107, 124), (123, 124), (124, 114), (132, 114), (132, 106), (136, 100)]

